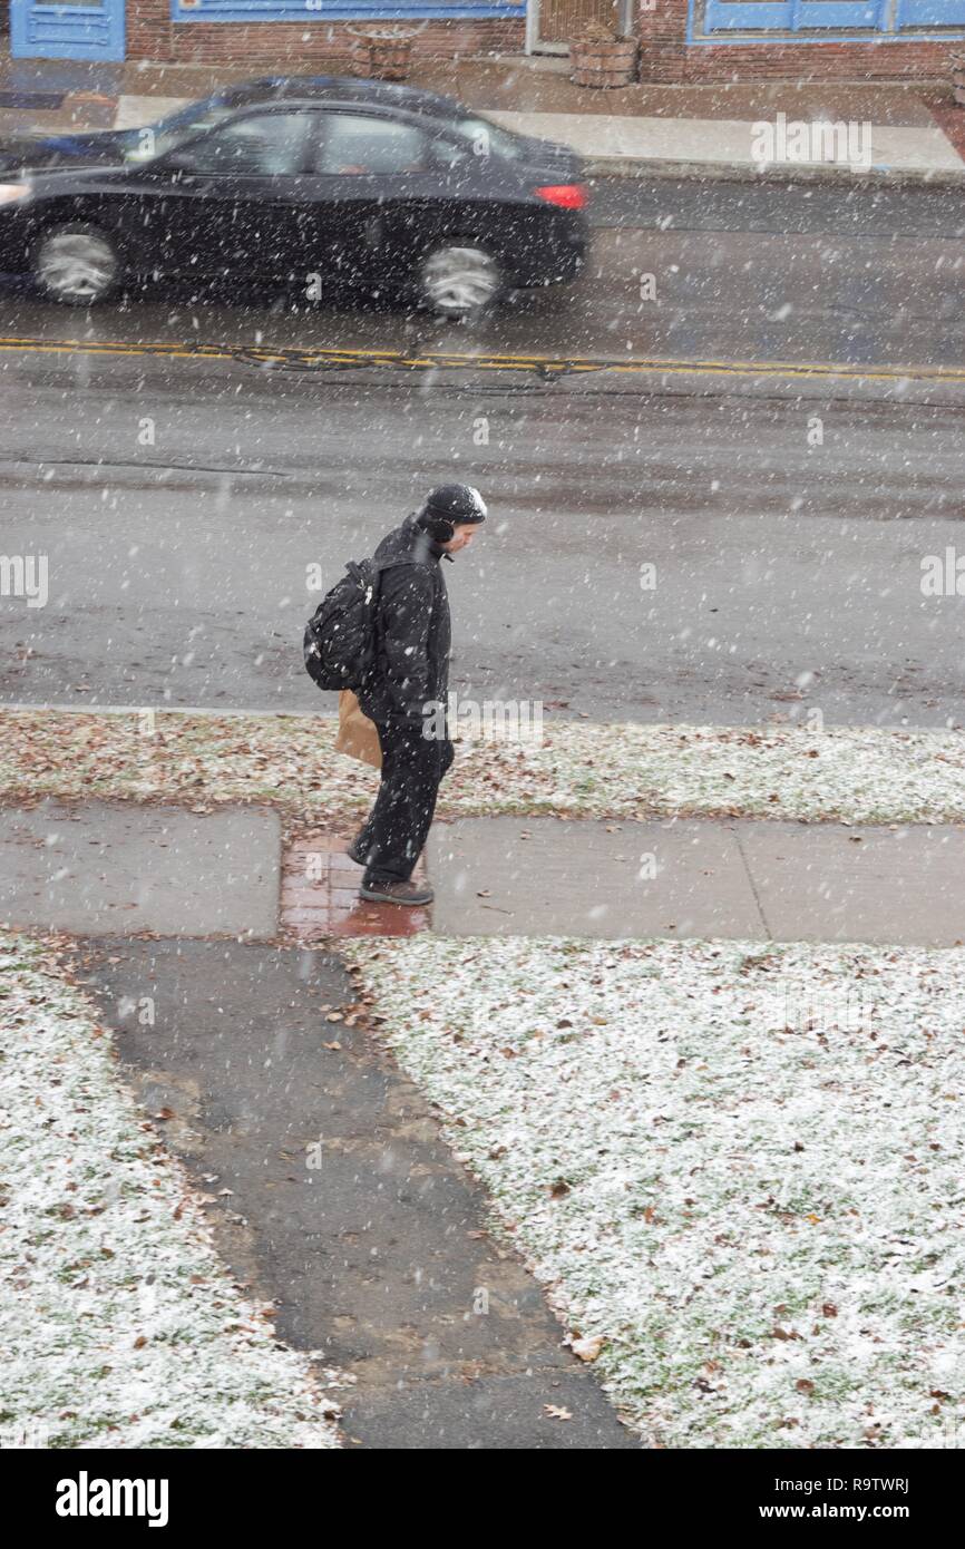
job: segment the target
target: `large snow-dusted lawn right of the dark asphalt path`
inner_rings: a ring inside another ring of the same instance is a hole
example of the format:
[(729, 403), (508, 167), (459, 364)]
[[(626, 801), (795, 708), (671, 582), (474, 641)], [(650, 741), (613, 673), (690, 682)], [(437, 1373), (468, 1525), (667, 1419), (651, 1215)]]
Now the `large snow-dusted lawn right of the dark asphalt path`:
[(965, 953), (345, 948), (651, 1445), (965, 1439)]

